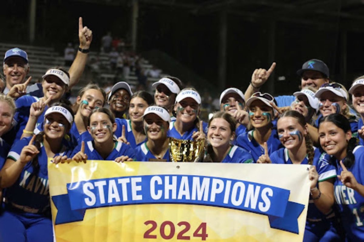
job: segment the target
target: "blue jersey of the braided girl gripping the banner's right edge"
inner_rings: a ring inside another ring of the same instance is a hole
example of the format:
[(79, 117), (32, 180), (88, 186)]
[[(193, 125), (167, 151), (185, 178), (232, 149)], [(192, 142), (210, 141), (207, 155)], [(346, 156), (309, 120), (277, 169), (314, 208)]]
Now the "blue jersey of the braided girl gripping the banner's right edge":
[[(286, 148), (281, 148), (273, 152), (269, 156), (273, 164), (293, 164), (289, 158), (288, 150)], [(316, 166), (316, 171), (318, 173), (318, 182), (326, 181), (330, 178), (336, 177), (335, 166), (330, 164), (330, 156), (326, 153), (321, 153), (319, 149), (314, 147), (314, 156), (312, 164)], [(301, 162), (301, 165), (308, 165), (308, 158)], [(310, 199), (308, 204), (307, 218), (309, 219), (325, 219), (329, 217), (330, 214), (323, 214), (314, 205), (313, 200)]]

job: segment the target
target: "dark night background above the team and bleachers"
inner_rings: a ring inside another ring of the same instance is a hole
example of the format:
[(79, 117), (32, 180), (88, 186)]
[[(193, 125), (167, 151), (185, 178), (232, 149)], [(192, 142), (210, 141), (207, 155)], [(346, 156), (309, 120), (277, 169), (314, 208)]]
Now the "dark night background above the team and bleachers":
[[(29, 44), (29, 4), (1, 1), (0, 42)], [(131, 0), (37, 0), (33, 44), (63, 55), (68, 42), (78, 42), (79, 16), (93, 31), (94, 51), (107, 31), (130, 40), (131, 6)], [(313, 58), (323, 60), (331, 79), (347, 88), (364, 74), (362, 0), (139, 0), (137, 52), (164, 53), (206, 80), (205, 88), (218, 89), (222, 11), (227, 15), (225, 87), (245, 90), (254, 69), (268, 69), (272, 60), (277, 62), (270, 80), (274, 94), (292, 94), (300, 84), (297, 69)], [(174, 73), (168, 63), (158, 67)]]

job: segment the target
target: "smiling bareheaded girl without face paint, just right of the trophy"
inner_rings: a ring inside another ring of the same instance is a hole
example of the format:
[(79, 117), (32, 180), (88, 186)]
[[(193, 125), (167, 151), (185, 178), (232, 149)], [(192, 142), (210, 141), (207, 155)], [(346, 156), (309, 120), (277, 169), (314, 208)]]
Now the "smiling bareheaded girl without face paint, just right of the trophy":
[(236, 120), (226, 112), (217, 112), (209, 121), (207, 152), (203, 162), (252, 163), (245, 149), (231, 145), (235, 137)]

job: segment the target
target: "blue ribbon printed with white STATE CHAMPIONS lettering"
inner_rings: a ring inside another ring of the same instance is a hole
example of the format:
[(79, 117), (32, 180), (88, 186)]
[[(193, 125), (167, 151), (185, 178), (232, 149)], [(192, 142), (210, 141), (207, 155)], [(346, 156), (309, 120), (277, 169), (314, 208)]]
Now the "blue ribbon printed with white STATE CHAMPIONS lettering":
[(298, 234), (304, 205), (288, 201), (290, 191), (221, 177), (154, 175), (104, 178), (67, 184), (52, 197), (55, 224), (82, 221), (86, 209), (132, 204), (179, 203), (225, 207), (267, 215), (270, 226)]

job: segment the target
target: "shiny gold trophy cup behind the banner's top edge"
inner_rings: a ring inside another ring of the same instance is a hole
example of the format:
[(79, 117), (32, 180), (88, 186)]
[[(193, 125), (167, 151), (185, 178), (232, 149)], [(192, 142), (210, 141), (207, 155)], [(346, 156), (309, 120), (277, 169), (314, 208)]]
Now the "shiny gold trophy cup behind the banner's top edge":
[(169, 138), (169, 156), (173, 162), (202, 162), (205, 155), (205, 139), (179, 140)]

